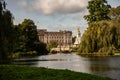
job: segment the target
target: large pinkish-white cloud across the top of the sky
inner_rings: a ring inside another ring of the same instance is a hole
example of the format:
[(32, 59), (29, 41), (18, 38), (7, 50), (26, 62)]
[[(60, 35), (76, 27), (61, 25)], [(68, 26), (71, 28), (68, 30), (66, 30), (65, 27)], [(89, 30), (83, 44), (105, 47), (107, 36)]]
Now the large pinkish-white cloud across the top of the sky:
[(52, 14), (71, 14), (84, 10), (89, 0), (34, 0), (32, 2), (21, 1), (19, 7), (43, 13), (45, 15)]

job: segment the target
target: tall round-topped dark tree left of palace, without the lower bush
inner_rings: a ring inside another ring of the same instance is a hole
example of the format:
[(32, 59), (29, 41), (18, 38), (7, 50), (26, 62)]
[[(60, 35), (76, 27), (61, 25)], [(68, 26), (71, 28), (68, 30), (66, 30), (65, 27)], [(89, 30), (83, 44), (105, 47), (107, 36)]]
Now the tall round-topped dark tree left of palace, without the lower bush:
[(24, 21), (19, 25), (19, 28), (22, 31), (22, 35), (20, 37), (23, 40), (25, 52), (34, 51), (34, 46), (39, 42), (36, 25), (32, 20), (24, 19)]

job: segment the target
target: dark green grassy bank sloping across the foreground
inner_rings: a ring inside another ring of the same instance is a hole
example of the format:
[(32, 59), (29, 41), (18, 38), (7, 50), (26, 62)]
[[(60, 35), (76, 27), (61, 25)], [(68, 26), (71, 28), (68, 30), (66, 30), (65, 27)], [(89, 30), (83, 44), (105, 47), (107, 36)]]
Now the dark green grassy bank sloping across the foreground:
[(112, 80), (107, 77), (18, 65), (0, 65), (0, 80)]

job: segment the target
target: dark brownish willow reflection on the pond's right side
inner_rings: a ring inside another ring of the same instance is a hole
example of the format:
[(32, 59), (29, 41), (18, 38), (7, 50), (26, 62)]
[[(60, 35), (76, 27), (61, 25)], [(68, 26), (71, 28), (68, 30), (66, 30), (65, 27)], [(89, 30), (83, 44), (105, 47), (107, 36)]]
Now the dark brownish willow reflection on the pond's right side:
[(120, 80), (120, 57), (89, 58), (91, 74)]

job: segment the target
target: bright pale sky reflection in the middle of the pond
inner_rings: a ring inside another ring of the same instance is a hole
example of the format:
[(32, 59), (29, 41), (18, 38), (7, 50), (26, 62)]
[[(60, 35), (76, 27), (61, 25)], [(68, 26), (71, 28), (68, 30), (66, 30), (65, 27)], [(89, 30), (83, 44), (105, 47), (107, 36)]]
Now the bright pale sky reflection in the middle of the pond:
[[(48, 67), (54, 69), (69, 69), (74, 71), (80, 72), (89, 72), (87, 68), (88, 63), (83, 62), (83, 58), (75, 54), (55, 54), (55, 55), (47, 55), (47, 56), (40, 56), (39, 59), (56, 59), (55, 61), (41, 61), (36, 66), (37, 67)], [(86, 65), (84, 65), (86, 64)]]

